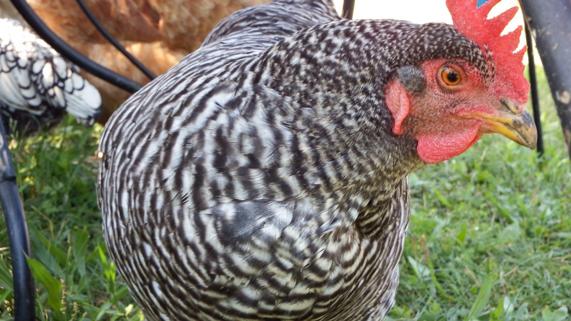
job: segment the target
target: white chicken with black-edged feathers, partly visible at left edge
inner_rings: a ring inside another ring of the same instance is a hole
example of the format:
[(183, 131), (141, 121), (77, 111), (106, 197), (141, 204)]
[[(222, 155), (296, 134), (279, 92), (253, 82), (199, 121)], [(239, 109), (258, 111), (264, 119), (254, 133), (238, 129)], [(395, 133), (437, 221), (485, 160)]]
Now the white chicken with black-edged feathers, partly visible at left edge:
[(2, 124), (26, 134), (49, 128), (65, 112), (93, 125), (101, 96), (79, 68), (67, 62), (27, 26), (0, 19), (0, 113)]

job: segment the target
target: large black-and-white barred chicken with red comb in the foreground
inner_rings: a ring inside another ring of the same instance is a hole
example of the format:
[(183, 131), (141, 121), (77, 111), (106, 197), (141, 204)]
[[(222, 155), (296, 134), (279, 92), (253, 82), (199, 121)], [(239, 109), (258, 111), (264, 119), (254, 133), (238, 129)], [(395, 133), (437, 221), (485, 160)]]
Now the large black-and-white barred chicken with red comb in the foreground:
[[(407, 176), (484, 133), (533, 148), (510, 10), (340, 20), (330, 0), (224, 19), (100, 144), (109, 253), (150, 320), (381, 320)], [(516, 9), (517, 10), (517, 9)], [(521, 32), (521, 30), (519, 30)]]

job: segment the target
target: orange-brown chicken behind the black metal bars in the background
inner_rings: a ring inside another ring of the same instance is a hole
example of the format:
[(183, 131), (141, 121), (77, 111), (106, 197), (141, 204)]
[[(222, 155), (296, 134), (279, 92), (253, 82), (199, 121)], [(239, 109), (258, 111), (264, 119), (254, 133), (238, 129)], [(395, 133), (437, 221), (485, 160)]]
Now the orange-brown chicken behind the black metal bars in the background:
[[(163, 74), (200, 46), (227, 15), (270, 0), (86, 0), (106, 29), (155, 75)], [(29, 0), (58, 36), (91, 60), (133, 79), (148, 79), (95, 29), (73, 0)], [(22, 20), (10, 1), (0, 0), (0, 16)], [(103, 99), (105, 123), (130, 93), (84, 72)]]

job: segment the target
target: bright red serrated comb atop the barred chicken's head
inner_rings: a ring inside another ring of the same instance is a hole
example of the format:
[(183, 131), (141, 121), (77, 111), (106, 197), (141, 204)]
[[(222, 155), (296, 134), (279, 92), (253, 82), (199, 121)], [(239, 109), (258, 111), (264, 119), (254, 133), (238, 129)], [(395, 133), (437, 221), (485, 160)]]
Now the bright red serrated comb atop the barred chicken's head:
[(516, 100), (517, 103), (525, 104), (528, 100), (529, 83), (524, 77), (522, 59), (527, 47), (514, 52), (520, 44), (522, 26), (506, 35), (500, 35), (515, 17), (517, 7), (488, 19), (490, 10), (500, 1), (488, 0), (477, 7), (477, 0), (446, 0), (446, 5), (456, 30), (477, 43), (482, 52), (485, 52), (485, 47), (492, 52), (496, 79), (503, 85), (498, 93)]

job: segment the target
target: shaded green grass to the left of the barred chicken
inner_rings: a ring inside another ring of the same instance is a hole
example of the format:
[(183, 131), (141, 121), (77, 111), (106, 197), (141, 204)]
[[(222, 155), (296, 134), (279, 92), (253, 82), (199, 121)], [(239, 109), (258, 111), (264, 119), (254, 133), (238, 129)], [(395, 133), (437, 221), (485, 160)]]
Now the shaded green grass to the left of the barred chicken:
[[(67, 119), (49, 133), (11, 145), (41, 320), (142, 319), (106, 257), (95, 194), (94, 153), (101, 131)], [(0, 244), (6, 245), (0, 251), (0, 319), (11, 319), (9, 250), (3, 221), (0, 226)]]

